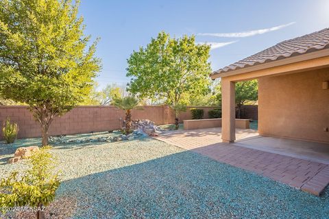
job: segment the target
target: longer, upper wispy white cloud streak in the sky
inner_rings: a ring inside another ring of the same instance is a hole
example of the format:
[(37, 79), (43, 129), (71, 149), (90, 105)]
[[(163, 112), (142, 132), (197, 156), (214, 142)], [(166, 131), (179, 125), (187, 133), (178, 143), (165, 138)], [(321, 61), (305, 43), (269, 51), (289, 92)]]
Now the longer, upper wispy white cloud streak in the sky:
[(218, 37), (232, 37), (232, 38), (240, 38), (240, 37), (247, 37), (247, 36), (255, 36), (258, 34), (265, 34), (267, 32), (276, 31), (278, 29), (282, 29), (284, 27), (288, 27), (290, 25), (293, 25), (295, 22), (287, 23), (285, 25), (279, 25), (276, 27), (270, 27), (266, 29), (255, 29), (251, 31), (245, 31), (245, 32), (237, 32), (237, 33), (200, 33), (197, 34), (198, 36), (218, 36)]

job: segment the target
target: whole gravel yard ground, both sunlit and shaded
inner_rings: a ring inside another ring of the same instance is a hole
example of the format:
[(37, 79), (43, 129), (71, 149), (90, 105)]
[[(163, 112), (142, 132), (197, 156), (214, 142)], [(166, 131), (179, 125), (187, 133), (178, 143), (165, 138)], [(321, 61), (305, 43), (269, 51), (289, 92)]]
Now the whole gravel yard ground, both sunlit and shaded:
[[(19, 140), (0, 146), (0, 177)], [(62, 184), (47, 218), (328, 218), (316, 197), (151, 138), (54, 146)], [(0, 216), (1, 218), (1, 216)], [(25, 218), (29, 218), (25, 215)]]

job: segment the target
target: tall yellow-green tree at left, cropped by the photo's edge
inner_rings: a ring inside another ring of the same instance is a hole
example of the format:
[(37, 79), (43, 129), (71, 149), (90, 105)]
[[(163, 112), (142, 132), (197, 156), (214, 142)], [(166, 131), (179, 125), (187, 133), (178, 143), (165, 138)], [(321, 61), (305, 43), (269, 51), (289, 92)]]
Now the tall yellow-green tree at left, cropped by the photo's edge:
[(51, 121), (88, 95), (99, 71), (79, 1), (0, 1), (0, 96), (26, 103), (48, 144)]

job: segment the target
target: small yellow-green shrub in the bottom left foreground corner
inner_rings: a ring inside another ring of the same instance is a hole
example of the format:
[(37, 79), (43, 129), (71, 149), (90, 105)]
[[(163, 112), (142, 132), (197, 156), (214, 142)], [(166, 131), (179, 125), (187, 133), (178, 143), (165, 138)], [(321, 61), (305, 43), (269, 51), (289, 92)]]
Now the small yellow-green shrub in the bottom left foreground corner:
[(55, 198), (60, 185), (58, 172), (54, 171), (56, 157), (49, 152), (50, 146), (43, 146), (32, 152), (29, 170), (20, 175), (12, 172), (0, 181), (0, 209), (5, 213), (8, 207), (33, 207), (38, 219), (43, 218), (43, 209)]

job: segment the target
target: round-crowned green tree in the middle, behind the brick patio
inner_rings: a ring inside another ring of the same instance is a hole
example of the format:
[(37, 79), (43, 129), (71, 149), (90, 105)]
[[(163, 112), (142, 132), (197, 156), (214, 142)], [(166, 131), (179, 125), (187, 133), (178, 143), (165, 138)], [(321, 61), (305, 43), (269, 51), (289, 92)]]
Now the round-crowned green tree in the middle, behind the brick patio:
[(186, 99), (202, 96), (210, 84), (210, 47), (196, 44), (195, 37), (171, 38), (160, 32), (145, 48), (133, 51), (127, 60), (127, 90), (142, 99), (166, 99), (178, 116)]

